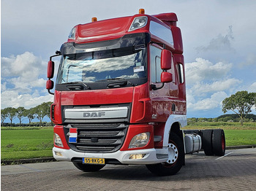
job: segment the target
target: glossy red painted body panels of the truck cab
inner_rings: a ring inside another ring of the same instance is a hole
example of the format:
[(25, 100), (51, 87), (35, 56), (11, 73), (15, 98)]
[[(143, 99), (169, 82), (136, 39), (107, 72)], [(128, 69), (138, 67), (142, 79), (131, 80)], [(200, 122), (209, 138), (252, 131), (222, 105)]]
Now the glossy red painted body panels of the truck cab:
[[(135, 31), (129, 31), (129, 26), (135, 17), (138, 16), (148, 17), (148, 23), (143, 28), (139, 28)], [(157, 23), (162, 24), (166, 28), (173, 32), (173, 45), (165, 42), (157, 36), (151, 34), (151, 41), (157, 43), (164, 43), (165, 48), (172, 52), (173, 62), (171, 68), (166, 68), (170, 74), (172, 74), (173, 82), (166, 83), (162, 89), (151, 89), (151, 77), (150, 77), (150, 55), (148, 53), (148, 82), (144, 85), (135, 87), (121, 87), (115, 89), (105, 90), (86, 90), (86, 91), (72, 91), (72, 92), (60, 92), (55, 91), (54, 95), (54, 118), (55, 124), (62, 124), (61, 120), (61, 106), (74, 106), (74, 105), (94, 105), (94, 104), (124, 104), (132, 103), (132, 110), (130, 115), (130, 124), (127, 137), (125, 139), (121, 150), (127, 150), (129, 141), (133, 136), (138, 133), (150, 132), (151, 139), (149, 143), (142, 148), (135, 149), (148, 149), (148, 148), (161, 148), (162, 141), (154, 144), (154, 135), (162, 136), (165, 131), (165, 122), (170, 114), (186, 114), (186, 87), (185, 79), (184, 83), (178, 82), (176, 64), (181, 63), (184, 68), (183, 58), (183, 45), (181, 39), (181, 30), (176, 26), (178, 20), (174, 13), (164, 13), (159, 15), (144, 15), (138, 14), (130, 17), (120, 17), (109, 20), (101, 20), (93, 23), (87, 23), (83, 25), (75, 26), (75, 39), (68, 39), (67, 42), (75, 43), (90, 43), (105, 41), (110, 39), (121, 38), (125, 34), (135, 33), (150, 33), (149, 24), (154, 20)], [(149, 46), (148, 46), (149, 50)], [(148, 51), (149, 52), (149, 51)], [(185, 75), (183, 75), (185, 77)], [(157, 84), (159, 87), (161, 83)], [(175, 111), (172, 111), (172, 106), (175, 104)], [(157, 115), (156, 118), (152, 118), (152, 114)], [(148, 125), (148, 122), (154, 125)], [(64, 139), (64, 133), (62, 126), (56, 125), (54, 132)], [(62, 133), (61, 133), (62, 132)], [(65, 148), (66, 148), (66, 141)]]

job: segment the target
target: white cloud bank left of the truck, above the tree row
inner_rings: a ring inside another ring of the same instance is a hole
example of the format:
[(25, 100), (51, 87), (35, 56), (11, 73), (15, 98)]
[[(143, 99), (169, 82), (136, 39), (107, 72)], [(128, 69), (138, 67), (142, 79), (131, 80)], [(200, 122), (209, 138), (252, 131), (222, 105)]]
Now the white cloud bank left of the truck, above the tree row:
[(24, 106), (26, 108), (53, 101), (52, 95), (38, 93), (45, 88), (47, 63), (31, 52), (1, 58), (1, 108)]

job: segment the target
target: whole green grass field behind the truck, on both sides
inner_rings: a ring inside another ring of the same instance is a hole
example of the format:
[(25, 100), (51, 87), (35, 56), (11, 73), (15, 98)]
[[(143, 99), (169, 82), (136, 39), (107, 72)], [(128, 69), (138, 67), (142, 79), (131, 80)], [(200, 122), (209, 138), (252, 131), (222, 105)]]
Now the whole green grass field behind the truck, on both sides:
[[(211, 123), (211, 122), (210, 122)], [(184, 129), (222, 128), (226, 145), (256, 144), (256, 123), (253, 125), (217, 126), (199, 124), (188, 125)], [(1, 128), (1, 160), (17, 160), (37, 157), (52, 157), (53, 128)]]

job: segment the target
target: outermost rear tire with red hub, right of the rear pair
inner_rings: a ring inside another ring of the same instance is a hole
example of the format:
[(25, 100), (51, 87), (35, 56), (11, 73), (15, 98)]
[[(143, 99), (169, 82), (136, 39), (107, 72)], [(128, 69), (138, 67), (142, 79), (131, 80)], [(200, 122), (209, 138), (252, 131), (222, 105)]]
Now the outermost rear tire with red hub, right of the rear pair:
[(214, 129), (212, 136), (212, 147), (214, 155), (225, 155), (225, 133), (223, 129)]

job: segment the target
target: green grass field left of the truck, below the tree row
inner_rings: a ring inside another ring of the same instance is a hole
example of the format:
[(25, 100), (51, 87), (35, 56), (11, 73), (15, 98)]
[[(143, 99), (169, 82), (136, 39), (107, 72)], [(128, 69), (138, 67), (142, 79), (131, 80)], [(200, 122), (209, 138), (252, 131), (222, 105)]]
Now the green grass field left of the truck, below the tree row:
[(53, 128), (1, 128), (1, 160), (52, 157)]

